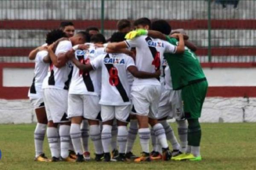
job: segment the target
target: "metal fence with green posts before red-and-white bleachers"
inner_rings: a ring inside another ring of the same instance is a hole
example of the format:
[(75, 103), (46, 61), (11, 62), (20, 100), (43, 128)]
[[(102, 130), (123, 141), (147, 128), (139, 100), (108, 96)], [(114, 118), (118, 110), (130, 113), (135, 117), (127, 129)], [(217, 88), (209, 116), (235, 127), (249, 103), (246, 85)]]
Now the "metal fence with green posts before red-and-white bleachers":
[[(110, 37), (117, 20), (148, 17), (185, 29), (201, 62), (256, 62), (255, 8), (256, 0), (0, 0), (0, 51), (40, 46), (62, 20)], [(7, 54), (0, 62), (27, 62)]]

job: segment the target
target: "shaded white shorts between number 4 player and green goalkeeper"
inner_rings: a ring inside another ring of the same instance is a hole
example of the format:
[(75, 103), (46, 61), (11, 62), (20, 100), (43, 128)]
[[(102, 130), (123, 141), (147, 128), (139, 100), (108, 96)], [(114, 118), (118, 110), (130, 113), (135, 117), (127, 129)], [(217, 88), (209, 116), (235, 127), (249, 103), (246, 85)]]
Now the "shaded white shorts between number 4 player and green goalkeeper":
[(157, 119), (165, 117), (167, 117), (167, 119), (183, 119), (181, 90), (165, 90), (162, 92), (157, 116)]

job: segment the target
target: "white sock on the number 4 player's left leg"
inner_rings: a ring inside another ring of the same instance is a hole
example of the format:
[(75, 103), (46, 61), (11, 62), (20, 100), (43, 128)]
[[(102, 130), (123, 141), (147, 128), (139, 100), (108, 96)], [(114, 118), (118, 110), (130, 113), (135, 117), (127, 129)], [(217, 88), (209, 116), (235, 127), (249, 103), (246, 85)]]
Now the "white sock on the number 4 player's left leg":
[(149, 153), (149, 139), (150, 139), (149, 128), (140, 128), (139, 136), (140, 136), (140, 145), (141, 145), (142, 151), (145, 153)]

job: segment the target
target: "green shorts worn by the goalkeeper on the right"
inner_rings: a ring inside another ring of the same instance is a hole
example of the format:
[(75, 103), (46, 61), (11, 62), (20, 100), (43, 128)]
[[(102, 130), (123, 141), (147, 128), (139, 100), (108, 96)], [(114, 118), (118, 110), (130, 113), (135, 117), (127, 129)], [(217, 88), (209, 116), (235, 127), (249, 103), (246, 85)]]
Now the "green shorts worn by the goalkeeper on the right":
[(202, 82), (187, 85), (181, 89), (185, 119), (198, 119), (207, 94), (208, 82)]

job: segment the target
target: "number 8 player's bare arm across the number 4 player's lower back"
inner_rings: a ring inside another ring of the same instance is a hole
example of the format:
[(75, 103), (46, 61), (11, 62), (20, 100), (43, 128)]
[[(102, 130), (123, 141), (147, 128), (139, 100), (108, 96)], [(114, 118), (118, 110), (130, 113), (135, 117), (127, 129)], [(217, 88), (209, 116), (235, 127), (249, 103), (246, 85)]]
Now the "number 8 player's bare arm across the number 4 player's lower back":
[(160, 70), (155, 73), (148, 73), (145, 71), (139, 71), (135, 65), (131, 65), (127, 68), (127, 70), (134, 76), (140, 79), (148, 79), (148, 78), (158, 78), (160, 77)]

